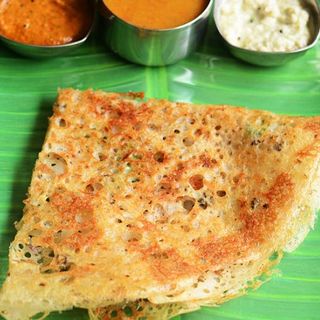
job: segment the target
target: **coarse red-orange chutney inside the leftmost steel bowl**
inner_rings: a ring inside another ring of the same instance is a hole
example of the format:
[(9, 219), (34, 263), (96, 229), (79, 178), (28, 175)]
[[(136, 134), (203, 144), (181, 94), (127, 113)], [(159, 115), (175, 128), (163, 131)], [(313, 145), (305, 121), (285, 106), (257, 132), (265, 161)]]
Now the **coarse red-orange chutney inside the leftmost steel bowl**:
[(91, 0), (0, 0), (0, 34), (25, 44), (66, 44), (87, 34), (93, 11)]

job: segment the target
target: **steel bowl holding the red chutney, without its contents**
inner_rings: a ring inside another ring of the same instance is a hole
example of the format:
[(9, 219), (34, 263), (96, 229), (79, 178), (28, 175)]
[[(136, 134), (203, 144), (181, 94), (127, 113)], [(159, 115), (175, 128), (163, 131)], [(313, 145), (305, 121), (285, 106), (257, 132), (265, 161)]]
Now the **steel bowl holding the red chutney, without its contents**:
[(50, 58), (50, 57), (63, 55), (69, 52), (70, 50), (78, 48), (84, 42), (86, 42), (86, 40), (88, 39), (88, 37), (90, 36), (94, 28), (95, 20), (96, 20), (95, 19), (96, 4), (94, 1), (93, 1), (93, 10), (94, 10), (94, 13), (93, 13), (92, 24), (90, 29), (82, 39), (77, 41), (73, 41), (73, 42), (61, 44), (61, 45), (43, 46), (43, 45), (33, 45), (33, 44), (22, 43), (19, 41), (9, 39), (2, 35), (0, 35), (0, 40), (11, 50), (31, 58)]

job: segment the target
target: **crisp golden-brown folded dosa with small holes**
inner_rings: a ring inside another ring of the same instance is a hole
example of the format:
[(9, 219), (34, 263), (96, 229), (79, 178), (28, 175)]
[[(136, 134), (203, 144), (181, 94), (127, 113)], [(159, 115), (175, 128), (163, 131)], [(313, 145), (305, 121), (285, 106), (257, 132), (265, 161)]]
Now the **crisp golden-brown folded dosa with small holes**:
[(319, 117), (141, 97), (59, 92), (0, 311), (220, 303), (308, 230)]

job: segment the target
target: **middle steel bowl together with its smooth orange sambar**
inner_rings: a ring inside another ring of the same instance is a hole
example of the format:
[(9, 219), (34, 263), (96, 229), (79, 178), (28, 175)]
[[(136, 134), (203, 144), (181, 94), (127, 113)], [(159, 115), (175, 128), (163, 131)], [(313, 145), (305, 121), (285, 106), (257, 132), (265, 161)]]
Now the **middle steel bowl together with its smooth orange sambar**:
[(213, 0), (103, 0), (104, 38), (131, 62), (173, 64), (200, 44), (212, 4)]

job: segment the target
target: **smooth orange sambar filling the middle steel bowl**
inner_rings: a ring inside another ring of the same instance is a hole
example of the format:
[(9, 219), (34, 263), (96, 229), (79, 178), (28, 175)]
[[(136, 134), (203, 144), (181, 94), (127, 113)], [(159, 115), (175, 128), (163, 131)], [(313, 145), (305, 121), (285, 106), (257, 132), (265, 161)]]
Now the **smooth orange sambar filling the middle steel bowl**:
[(170, 29), (199, 16), (208, 0), (104, 0), (118, 18), (145, 29)]

